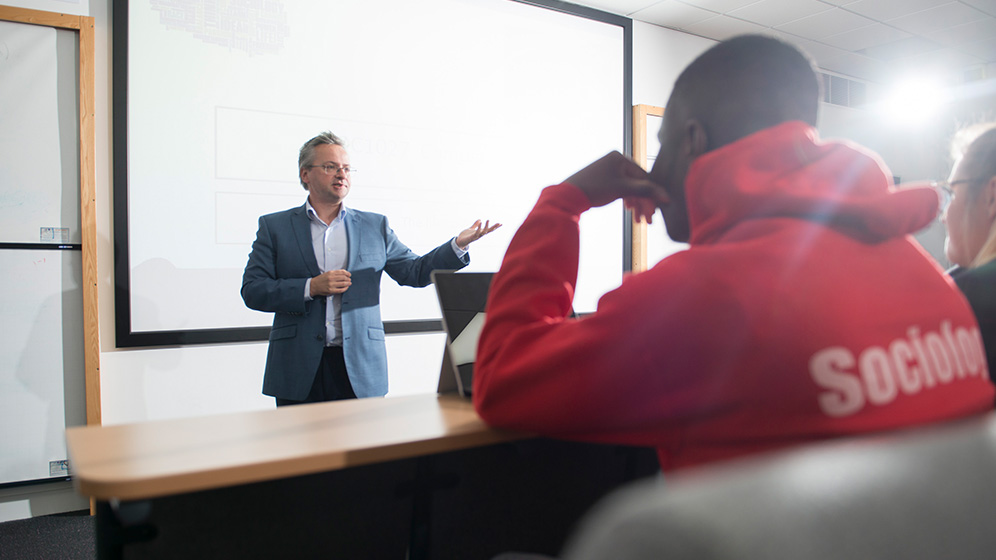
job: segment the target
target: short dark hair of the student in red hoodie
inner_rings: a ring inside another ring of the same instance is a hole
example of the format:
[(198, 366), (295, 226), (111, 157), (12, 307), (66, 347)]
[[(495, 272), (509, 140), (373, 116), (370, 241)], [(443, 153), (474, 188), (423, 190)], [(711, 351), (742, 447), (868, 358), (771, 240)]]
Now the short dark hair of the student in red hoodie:
[(715, 149), (786, 121), (816, 126), (820, 78), (789, 43), (741, 35), (695, 59), (675, 81), (675, 100), (702, 123)]

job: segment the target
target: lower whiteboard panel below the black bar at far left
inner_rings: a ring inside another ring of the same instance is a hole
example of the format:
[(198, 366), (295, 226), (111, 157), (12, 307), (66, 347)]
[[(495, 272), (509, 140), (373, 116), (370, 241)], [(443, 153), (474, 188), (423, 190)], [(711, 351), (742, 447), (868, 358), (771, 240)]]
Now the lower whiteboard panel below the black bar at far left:
[(0, 484), (68, 476), (86, 424), (82, 253), (0, 249)]

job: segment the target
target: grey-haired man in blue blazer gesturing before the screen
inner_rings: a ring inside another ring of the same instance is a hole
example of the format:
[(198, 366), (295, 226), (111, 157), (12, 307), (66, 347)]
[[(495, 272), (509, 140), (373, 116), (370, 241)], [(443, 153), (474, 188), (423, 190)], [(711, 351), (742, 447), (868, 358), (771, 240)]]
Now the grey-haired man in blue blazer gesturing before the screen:
[(433, 270), (467, 266), (468, 245), (501, 226), (477, 220), (418, 256), (386, 217), (343, 204), (353, 171), (342, 139), (323, 132), (298, 157), (305, 203), (259, 218), (241, 293), (274, 313), (263, 394), (277, 406), (385, 395), (381, 274), (427, 286)]

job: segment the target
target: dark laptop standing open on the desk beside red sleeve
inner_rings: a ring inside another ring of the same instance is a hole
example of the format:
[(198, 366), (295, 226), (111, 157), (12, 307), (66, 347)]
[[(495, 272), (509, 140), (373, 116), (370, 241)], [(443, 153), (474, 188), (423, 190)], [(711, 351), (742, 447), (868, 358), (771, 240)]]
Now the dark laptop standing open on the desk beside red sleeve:
[(477, 339), (484, 326), (484, 308), (493, 276), (493, 272), (436, 270), (432, 273), (446, 330), (438, 393), (455, 392), (465, 397), (471, 394)]

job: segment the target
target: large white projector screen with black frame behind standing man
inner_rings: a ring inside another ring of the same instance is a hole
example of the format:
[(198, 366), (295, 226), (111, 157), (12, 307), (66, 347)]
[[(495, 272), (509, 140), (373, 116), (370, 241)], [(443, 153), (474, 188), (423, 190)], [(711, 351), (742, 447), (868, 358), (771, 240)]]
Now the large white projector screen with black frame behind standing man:
[[(118, 346), (265, 339), (242, 271), (324, 130), (358, 170), (347, 206), (416, 253), (501, 222), (467, 269), (497, 270), (543, 187), (628, 148), (630, 20), (551, 4), (116, 2)], [(620, 204), (585, 214), (578, 311), (621, 282), (624, 238)], [(431, 289), (385, 277), (381, 303), (389, 333), (438, 325)]]

